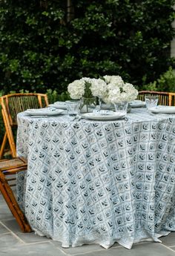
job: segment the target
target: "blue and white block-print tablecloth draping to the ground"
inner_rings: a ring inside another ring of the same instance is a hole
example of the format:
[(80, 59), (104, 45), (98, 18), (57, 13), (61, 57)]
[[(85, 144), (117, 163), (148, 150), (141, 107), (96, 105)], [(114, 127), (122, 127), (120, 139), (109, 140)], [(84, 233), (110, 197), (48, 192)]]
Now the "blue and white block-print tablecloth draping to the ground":
[(37, 234), (65, 247), (130, 249), (175, 231), (174, 115), (138, 108), (128, 120), (71, 122), (21, 113), (17, 152), (28, 160), (19, 203)]

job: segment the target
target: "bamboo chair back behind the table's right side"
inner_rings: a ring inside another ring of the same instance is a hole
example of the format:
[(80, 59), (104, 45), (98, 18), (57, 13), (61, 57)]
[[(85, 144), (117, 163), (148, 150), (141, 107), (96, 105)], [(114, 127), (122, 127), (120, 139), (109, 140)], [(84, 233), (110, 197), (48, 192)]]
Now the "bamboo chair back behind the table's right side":
[(175, 105), (175, 93), (163, 92), (163, 91), (139, 91), (138, 99), (145, 101), (145, 95), (158, 95), (158, 105)]

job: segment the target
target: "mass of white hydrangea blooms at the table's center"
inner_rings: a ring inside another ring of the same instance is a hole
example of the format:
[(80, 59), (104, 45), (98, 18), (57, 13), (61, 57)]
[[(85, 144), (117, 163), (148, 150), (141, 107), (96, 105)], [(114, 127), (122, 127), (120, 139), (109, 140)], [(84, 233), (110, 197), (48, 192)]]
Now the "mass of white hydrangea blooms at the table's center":
[[(83, 77), (71, 82), (67, 87), (72, 99), (90, 99), (98, 97), (100, 101), (116, 105), (121, 102), (131, 102), (136, 99), (138, 91), (121, 76), (102, 76), (99, 79)], [(84, 102), (87, 104), (88, 102)]]

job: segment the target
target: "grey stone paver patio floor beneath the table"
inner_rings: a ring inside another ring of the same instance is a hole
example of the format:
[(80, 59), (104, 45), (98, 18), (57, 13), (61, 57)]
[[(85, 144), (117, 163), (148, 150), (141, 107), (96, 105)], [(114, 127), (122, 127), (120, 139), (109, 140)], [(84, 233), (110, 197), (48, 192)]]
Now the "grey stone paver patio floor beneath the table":
[(142, 242), (131, 250), (115, 243), (110, 249), (98, 244), (62, 248), (61, 243), (32, 233), (22, 233), (0, 194), (0, 256), (175, 256), (175, 232), (161, 237), (162, 243)]

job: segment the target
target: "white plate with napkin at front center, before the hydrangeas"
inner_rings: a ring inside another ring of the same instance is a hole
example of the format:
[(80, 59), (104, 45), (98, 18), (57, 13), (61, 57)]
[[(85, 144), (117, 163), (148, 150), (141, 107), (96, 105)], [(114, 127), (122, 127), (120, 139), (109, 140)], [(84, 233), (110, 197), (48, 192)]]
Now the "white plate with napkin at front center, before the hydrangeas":
[(82, 118), (93, 119), (93, 120), (115, 120), (125, 117), (125, 114), (119, 112), (110, 112), (108, 114), (99, 113), (85, 113), (82, 114)]

